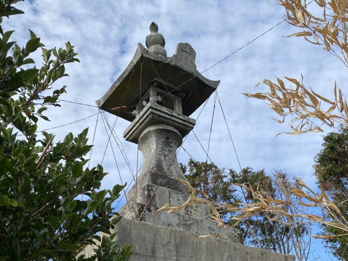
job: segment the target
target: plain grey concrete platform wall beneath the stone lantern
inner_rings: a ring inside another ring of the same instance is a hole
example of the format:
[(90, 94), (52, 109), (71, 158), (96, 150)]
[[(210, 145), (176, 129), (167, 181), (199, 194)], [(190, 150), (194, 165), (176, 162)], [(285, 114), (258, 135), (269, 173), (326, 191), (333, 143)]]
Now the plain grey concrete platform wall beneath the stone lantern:
[[(295, 261), (294, 255), (280, 254), (198, 234), (122, 219), (114, 231), (122, 244), (131, 244), (131, 261)], [(93, 254), (89, 246), (83, 252)]]

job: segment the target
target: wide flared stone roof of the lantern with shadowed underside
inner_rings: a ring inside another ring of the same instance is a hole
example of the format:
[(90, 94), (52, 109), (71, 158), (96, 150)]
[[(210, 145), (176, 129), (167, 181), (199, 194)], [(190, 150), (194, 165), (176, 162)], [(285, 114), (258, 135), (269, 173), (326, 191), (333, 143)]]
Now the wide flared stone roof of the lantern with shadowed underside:
[[(187, 44), (184, 49), (187, 49), (188, 46), (190, 45)], [(182, 48), (178, 47), (177, 50), (181, 51)], [(190, 61), (191, 65), (185, 66), (185, 60)], [(109, 113), (133, 121), (135, 116), (129, 113), (130, 108), (112, 109), (121, 106), (132, 107), (139, 103), (139, 96), (145, 95), (153, 80), (159, 75), (163, 81), (175, 87), (167, 86), (168, 91), (182, 97), (183, 115), (190, 116), (220, 83), (220, 81), (211, 81), (202, 76), (192, 65), (192, 62), (192, 58), (189, 59), (183, 53), (176, 57), (173, 55), (173, 57), (163, 58), (163, 56), (153, 54), (141, 43), (138, 43), (137, 51), (126, 70), (96, 101), (96, 104)]]

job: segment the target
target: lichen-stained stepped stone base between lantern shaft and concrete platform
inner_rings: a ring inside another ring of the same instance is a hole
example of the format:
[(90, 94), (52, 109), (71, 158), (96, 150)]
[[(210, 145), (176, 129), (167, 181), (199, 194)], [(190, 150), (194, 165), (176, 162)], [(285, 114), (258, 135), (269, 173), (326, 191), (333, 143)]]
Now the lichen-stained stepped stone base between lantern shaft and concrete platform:
[(188, 194), (176, 190), (146, 184), (137, 191), (137, 203), (135, 203), (134, 187), (127, 194), (128, 204), (119, 213), (126, 219), (135, 219), (143, 222), (182, 229), (196, 234), (214, 235), (217, 238), (231, 242), (243, 243), (237, 229), (218, 227), (215, 222), (209, 221), (210, 208), (207, 205), (192, 205), (176, 213), (161, 211), (155, 213), (164, 204), (183, 204)]

